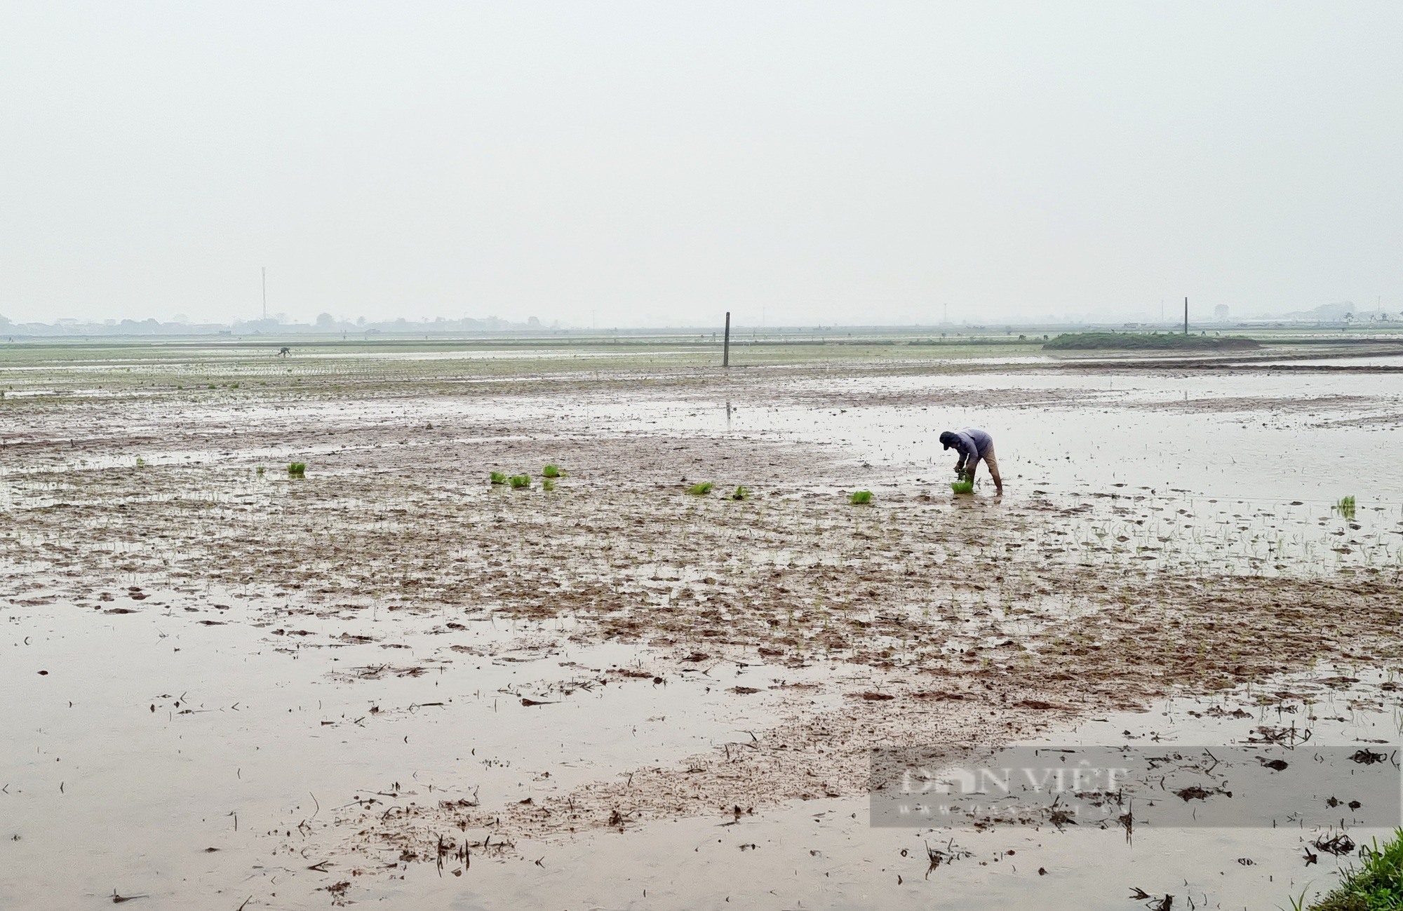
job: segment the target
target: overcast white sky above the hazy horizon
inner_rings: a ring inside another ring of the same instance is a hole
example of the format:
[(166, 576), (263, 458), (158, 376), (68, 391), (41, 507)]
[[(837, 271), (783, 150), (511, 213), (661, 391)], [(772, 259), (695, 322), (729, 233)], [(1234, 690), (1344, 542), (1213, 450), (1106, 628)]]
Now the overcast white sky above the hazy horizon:
[(0, 6), (0, 314), (1403, 308), (1397, 3)]

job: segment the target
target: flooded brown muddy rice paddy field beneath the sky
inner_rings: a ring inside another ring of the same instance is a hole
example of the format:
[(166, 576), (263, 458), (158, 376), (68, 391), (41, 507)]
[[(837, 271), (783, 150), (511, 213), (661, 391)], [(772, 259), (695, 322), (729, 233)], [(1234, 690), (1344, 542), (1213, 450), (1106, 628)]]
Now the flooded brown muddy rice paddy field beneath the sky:
[(1337, 827), (874, 828), (870, 750), (1399, 740), (1389, 352), (275, 350), (0, 363), (3, 907), (1270, 908)]

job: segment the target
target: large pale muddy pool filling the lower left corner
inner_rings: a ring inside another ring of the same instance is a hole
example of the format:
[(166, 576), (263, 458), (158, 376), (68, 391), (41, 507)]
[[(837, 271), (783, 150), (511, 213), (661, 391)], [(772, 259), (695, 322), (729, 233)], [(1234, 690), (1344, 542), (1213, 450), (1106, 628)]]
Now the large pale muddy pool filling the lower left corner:
[[(348, 800), (540, 797), (772, 723), (765, 669), (709, 663), (655, 683), (645, 653), (577, 648), (558, 624), (484, 618), (446, 646), (441, 624), (405, 633), (411, 621), (355, 611), (297, 617), (271, 645), (250, 624), (275, 605), (145, 594), (7, 611), (0, 907), (112, 890), (223, 907), (246, 880), (265, 907), (304, 907), (324, 879), (306, 869), (324, 859), (306, 854), (311, 826)], [(375, 643), (386, 624), (393, 649)], [(762, 691), (737, 704), (727, 688), (752, 678)], [(286, 879), (296, 893), (271, 901)]]

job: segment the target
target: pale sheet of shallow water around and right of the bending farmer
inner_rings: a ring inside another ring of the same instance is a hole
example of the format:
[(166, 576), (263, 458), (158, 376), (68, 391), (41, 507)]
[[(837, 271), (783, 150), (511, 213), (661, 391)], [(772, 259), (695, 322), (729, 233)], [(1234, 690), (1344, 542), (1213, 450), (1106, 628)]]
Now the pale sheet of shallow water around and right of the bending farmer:
[[(944, 496), (955, 458), (939, 432), (982, 426), (995, 437), (1007, 505), (1042, 495), (1122, 500), (1135, 517), (1080, 534), (1118, 538), (1145, 558), (1174, 551), (1228, 572), (1267, 573), (1403, 562), (1403, 388), (1392, 376), (920, 376), (796, 385), (798, 402), (603, 411), (624, 432), (666, 426), (835, 447), (859, 463), (853, 474), (878, 496)], [(1016, 405), (1005, 404), (1010, 397)], [(982, 493), (993, 493), (981, 478)], [(1334, 509), (1343, 496), (1358, 506), (1348, 521)], [(1237, 549), (1243, 541), (1257, 547), (1254, 556)]]

